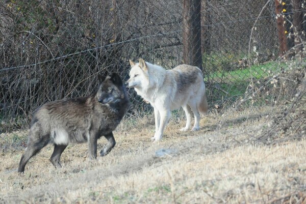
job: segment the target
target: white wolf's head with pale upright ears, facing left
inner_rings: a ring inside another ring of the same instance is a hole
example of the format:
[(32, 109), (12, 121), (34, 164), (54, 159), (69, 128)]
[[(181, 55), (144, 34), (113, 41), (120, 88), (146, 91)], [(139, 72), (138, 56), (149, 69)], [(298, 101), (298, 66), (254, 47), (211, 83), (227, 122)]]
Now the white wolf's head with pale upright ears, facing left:
[(141, 89), (149, 84), (148, 67), (143, 59), (139, 63), (130, 60), (132, 69), (130, 70), (130, 79), (126, 81), (127, 87)]

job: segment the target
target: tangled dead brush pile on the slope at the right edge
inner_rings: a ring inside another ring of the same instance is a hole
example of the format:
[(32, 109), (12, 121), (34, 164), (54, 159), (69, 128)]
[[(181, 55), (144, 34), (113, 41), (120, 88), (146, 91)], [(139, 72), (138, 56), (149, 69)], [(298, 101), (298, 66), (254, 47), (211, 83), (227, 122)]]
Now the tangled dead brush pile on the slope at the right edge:
[(254, 100), (262, 100), (263, 95), (269, 96), (280, 109), (270, 115), (268, 127), (256, 137), (256, 142), (271, 145), (305, 137), (305, 68), (303, 65), (293, 70), (282, 70), (281, 73), (269, 77), (267, 82), (260, 86), (259, 89), (262, 89), (263, 92), (255, 95)]

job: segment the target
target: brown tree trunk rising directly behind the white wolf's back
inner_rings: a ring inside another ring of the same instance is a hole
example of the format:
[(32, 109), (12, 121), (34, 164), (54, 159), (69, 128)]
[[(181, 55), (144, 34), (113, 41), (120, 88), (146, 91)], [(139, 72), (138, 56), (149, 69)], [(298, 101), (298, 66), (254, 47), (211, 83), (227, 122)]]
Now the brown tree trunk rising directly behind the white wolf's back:
[(200, 0), (183, 0), (183, 30), (183, 61), (202, 70)]

